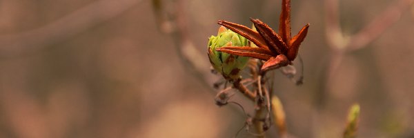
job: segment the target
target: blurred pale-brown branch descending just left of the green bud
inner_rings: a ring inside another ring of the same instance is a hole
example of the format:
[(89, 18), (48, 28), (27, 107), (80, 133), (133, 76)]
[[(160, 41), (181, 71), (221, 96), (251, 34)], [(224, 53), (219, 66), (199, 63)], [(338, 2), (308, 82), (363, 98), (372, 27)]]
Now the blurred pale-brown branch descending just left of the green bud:
[(208, 83), (206, 77), (201, 70), (210, 68), (208, 61), (206, 61), (207, 54), (202, 54), (195, 48), (193, 41), (190, 39), (188, 30), (188, 22), (186, 21), (186, 12), (184, 11), (184, 1), (178, 0), (174, 3), (174, 11), (166, 11), (166, 1), (153, 0), (152, 6), (155, 11), (158, 28), (161, 32), (170, 34), (174, 41), (175, 50), (179, 59), (186, 69), (190, 70), (193, 76), (197, 77), (199, 81), (208, 90), (214, 91)]

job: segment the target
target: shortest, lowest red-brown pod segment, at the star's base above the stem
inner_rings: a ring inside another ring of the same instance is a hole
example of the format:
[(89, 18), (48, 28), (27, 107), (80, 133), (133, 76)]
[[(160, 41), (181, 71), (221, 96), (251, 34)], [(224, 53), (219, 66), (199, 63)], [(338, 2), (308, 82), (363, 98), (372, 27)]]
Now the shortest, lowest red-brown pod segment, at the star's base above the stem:
[(261, 70), (273, 70), (282, 66), (288, 66), (289, 63), (290, 61), (285, 55), (277, 55), (276, 57), (271, 57), (268, 61), (264, 62)]

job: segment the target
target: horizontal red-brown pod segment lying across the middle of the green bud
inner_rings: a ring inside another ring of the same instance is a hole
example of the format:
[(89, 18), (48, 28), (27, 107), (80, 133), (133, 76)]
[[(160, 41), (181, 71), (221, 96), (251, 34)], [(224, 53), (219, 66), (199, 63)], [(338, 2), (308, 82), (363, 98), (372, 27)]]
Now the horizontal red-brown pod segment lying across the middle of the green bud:
[(272, 52), (264, 48), (252, 48), (252, 47), (239, 47), (239, 46), (225, 46), (217, 48), (216, 51), (226, 52), (231, 55), (238, 55), (244, 57), (253, 57), (256, 59), (262, 59), (267, 61), (270, 57), (273, 57)]

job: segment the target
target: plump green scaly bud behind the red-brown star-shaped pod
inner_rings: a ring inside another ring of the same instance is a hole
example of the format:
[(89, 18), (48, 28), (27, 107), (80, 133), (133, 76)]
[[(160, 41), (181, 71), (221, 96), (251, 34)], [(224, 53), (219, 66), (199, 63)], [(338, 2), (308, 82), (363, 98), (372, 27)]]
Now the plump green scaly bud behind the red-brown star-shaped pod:
[(215, 50), (224, 46), (249, 46), (248, 40), (236, 32), (227, 30), (224, 26), (219, 28), (217, 36), (211, 36), (208, 39), (208, 58), (213, 68), (228, 80), (237, 79), (249, 57), (230, 55)]

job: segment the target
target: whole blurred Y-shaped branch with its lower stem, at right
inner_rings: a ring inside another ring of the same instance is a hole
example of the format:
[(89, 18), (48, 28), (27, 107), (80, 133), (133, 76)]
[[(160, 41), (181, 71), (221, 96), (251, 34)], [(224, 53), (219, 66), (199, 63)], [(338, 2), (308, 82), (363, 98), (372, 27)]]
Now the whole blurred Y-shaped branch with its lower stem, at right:
[[(368, 23), (356, 34), (344, 36), (339, 23), (338, 0), (325, 0), (326, 41), (329, 48), (331, 48), (331, 53), (328, 57), (329, 61), (326, 65), (326, 70), (324, 70), (326, 75), (324, 75), (322, 80), (322, 90), (319, 90), (315, 98), (317, 110), (323, 108), (326, 95), (328, 95), (328, 91), (332, 86), (331, 82), (346, 53), (364, 48), (368, 46), (368, 43), (380, 37), (387, 28), (400, 19), (402, 12), (413, 5), (413, 2), (414, 0), (399, 0), (395, 4), (388, 6), (382, 14), (375, 17), (371, 23)], [(314, 120), (313, 122), (319, 121)], [(321, 124), (315, 123), (314, 125), (314, 128), (319, 129), (318, 126)]]

